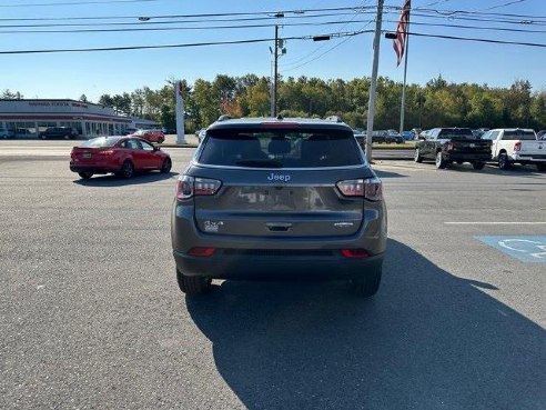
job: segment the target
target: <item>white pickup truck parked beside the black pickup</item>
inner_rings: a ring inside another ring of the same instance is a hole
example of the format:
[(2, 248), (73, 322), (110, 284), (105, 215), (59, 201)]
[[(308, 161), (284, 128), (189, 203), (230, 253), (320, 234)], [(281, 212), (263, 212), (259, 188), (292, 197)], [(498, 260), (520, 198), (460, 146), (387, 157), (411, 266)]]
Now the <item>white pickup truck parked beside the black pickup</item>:
[(498, 168), (509, 169), (513, 163), (534, 163), (539, 171), (546, 171), (546, 141), (537, 140), (530, 129), (497, 128), (482, 136), (492, 140), (492, 158)]

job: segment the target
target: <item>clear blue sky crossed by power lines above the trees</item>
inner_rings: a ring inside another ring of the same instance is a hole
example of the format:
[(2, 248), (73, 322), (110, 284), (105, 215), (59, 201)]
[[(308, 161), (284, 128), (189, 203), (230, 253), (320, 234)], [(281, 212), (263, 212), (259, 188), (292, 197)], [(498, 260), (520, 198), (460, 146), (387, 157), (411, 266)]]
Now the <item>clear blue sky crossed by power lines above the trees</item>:
[[(394, 31), (400, 16), (394, 8), (402, 3), (403, 0), (385, 0), (384, 30)], [(0, 52), (272, 39), (275, 22), (281, 24), (281, 38), (356, 32), (374, 29), (375, 6), (376, 0), (0, 0)], [(309, 11), (354, 7), (362, 7), (361, 12)], [(413, 0), (412, 7), (412, 22), (418, 23), (412, 26), (412, 32), (546, 44), (544, 0)], [(307, 11), (294, 12), (299, 10)], [(266, 11), (287, 12), (284, 18), (274, 18), (262, 14)], [(170, 17), (220, 13), (249, 14), (200, 19)], [(317, 13), (326, 16), (313, 17)], [(138, 17), (151, 19), (139, 21)], [(270, 19), (263, 20), (267, 17)], [(243, 18), (249, 20), (242, 21)], [(204, 21), (190, 23), (188, 20)], [(300, 23), (306, 24), (294, 26)], [(241, 24), (267, 27), (211, 29)], [(454, 24), (475, 28), (446, 27)], [(160, 27), (198, 29), (74, 32)], [(69, 32), (21, 32), (24, 30)], [(279, 71), (283, 77), (295, 78), (351, 80), (370, 77), (372, 43), (373, 33), (323, 42), (287, 40)], [(169, 79), (185, 79), (191, 84), (198, 78), (213, 80), (216, 74), (270, 76), (270, 46), (273, 46), (272, 41), (158, 50), (0, 53), (0, 90), (20, 91), (24, 98), (78, 99), (84, 93), (90, 101), (97, 101), (103, 93), (131, 92), (144, 86), (158, 89)], [(509, 87), (515, 80), (524, 79), (530, 81), (533, 91), (546, 91), (545, 67), (546, 48), (412, 36), (407, 82), (424, 84), (441, 74), (449, 82)], [(403, 79), (403, 64), (396, 68), (392, 40), (384, 38), (381, 40), (378, 72), (395, 81)]]

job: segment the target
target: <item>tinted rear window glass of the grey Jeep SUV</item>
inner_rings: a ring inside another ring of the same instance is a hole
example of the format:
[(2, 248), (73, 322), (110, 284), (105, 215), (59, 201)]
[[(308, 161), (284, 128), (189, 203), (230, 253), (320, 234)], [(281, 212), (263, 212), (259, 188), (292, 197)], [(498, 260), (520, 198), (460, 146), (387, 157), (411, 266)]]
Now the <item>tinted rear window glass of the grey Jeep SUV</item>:
[(351, 131), (209, 130), (200, 163), (249, 168), (323, 168), (363, 163)]

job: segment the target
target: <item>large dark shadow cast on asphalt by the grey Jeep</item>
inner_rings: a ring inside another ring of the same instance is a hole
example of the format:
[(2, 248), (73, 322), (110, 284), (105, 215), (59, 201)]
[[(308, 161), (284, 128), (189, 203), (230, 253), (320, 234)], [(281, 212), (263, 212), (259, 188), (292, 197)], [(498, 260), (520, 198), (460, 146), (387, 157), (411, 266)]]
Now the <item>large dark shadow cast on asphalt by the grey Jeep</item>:
[[(472, 277), (472, 272), (468, 272)], [(186, 298), (247, 409), (542, 409), (546, 331), (388, 241), (378, 294), (337, 282), (235, 282)]]

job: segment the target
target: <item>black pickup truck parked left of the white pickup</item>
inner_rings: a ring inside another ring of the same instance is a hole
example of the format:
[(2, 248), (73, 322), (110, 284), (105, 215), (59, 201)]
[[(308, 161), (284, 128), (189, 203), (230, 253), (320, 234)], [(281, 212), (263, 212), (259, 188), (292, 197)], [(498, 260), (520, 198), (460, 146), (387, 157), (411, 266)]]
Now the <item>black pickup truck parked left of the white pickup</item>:
[(471, 162), (479, 170), (491, 160), (491, 141), (474, 137), (469, 128), (434, 128), (426, 137), (419, 136), (414, 160), (434, 160), (438, 169), (452, 162)]

